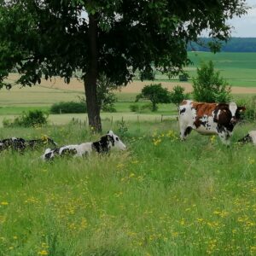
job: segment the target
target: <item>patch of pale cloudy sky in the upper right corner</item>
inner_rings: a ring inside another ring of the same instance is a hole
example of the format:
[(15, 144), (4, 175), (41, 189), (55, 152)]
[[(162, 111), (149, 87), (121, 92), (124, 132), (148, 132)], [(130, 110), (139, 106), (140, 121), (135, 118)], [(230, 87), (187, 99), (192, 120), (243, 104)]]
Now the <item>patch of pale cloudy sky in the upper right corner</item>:
[(246, 3), (252, 7), (247, 11), (247, 15), (227, 21), (228, 24), (234, 26), (231, 32), (232, 37), (256, 38), (256, 0), (247, 0)]

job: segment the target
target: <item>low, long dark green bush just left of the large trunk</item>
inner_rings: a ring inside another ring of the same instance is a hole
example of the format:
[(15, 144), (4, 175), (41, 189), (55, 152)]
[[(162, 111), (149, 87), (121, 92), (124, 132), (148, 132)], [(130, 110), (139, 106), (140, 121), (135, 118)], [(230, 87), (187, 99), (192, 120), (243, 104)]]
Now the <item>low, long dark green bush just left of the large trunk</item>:
[(85, 102), (59, 102), (53, 104), (50, 113), (86, 113)]

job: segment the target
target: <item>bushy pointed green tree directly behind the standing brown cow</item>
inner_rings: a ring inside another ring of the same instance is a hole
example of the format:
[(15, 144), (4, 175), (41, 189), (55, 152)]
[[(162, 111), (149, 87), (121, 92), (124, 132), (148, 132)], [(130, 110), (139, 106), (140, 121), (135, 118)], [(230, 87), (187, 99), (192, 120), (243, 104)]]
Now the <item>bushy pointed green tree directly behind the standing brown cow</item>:
[(212, 61), (201, 63), (193, 79), (193, 95), (198, 102), (230, 102), (230, 85), (214, 71)]

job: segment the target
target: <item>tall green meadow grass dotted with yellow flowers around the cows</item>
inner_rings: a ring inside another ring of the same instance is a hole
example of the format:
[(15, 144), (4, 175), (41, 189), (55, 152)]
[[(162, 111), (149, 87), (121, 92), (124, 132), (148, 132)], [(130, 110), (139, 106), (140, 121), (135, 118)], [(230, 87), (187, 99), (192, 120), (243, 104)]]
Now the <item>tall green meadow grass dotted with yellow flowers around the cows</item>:
[[(177, 122), (126, 122), (125, 152), (38, 160), (44, 148), (0, 158), (1, 255), (254, 255), (256, 156), (195, 132), (177, 139)], [(79, 125), (0, 129), (3, 137), (59, 144), (96, 140)]]

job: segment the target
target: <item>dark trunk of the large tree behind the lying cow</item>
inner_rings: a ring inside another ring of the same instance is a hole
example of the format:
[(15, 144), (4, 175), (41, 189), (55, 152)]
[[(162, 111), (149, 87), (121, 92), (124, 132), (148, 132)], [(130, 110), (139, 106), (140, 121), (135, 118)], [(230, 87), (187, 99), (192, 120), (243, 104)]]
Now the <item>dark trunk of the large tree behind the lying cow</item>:
[(84, 89), (89, 125), (97, 132), (102, 131), (100, 108), (96, 95), (97, 82), (97, 20), (96, 15), (89, 15), (89, 68), (84, 78)]

